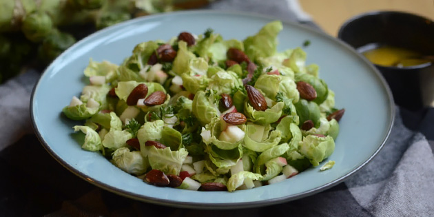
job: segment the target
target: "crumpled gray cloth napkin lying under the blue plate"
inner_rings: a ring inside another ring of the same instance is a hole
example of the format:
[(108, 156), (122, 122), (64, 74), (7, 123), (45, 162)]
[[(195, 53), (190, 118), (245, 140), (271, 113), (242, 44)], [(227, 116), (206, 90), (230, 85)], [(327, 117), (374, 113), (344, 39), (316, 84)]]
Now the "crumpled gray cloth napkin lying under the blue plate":
[[(216, 1), (209, 8), (245, 10), (296, 20), (288, 1)], [(0, 85), (0, 152), (24, 134), (32, 133), (30, 94), (39, 74), (29, 71)], [(63, 201), (61, 209), (48, 216), (434, 216), (434, 156), (426, 138), (404, 127), (400, 108), (382, 151), (360, 172), (343, 184), (319, 194), (288, 203), (254, 209), (204, 211), (130, 203), (115, 213), (107, 210), (105, 191), (94, 190), (76, 200)], [(369, 135), (365, 135), (369, 136)], [(1, 176), (0, 176), (1, 177)], [(123, 200), (121, 196), (114, 200)], [(1, 215), (1, 214), (0, 214)]]

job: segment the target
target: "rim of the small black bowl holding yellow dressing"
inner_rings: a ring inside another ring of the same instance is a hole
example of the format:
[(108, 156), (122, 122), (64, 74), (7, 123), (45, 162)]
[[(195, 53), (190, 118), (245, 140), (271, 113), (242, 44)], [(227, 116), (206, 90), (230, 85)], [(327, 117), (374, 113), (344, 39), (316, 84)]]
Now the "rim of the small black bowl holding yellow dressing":
[[(338, 36), (337, 38), (341, 41), (343, 41), (344, 43), (347, 43), (347, 41), (344, 41), (342, 39), (343, 34), (344, 34), (344, 29), (347, 28), (347, 26), (350, 23), (353, 23), (354, 21), (358, 20), (358, 19), (362, 19), (364, 17), (369, 17), (369, 16), (378, 16), (381, 14), (400, 14), (400, 15), (406, 15), (406, 16), (411, 16), (411, 17), (415, 17), (417, 19), (421, 19), (421, 20), (425, 20), (425, 21), (430, 21), (430, 24), (434, 26), (434, 21), (432, 19), (429, 19), (427, 17), (424, 17), (420, 14), (415, 14), (415, 13), (411, 13), (411, 12), (405, 12), (402, 10), (373, 10), (370, 12), (362, 12), (360, 14), (356, 14), (353, 17), (350, 17), (349, 19), (347, 19), (346, 21), (344, 21), (344, 23), (342, 23), (342, 25), (340, 26), (339, 30), (338, 30)], [(347, 43), (349, 45), (349, 43)], [(375, 43), (373, 43), (375, 44)], [(350, 45), (351, 46), (351, 45)], [(353, 48), (353, 46), (351, 46), (351, 48)], [(355, 50), (358, 51), (359, 48), (354, 48)], [(422, 63), (419, 65), (411, 65), (411, 66), (407, 66), (407, 67), (396, 67), (396, 66), (384, 66), (384, 65), (378, 65), (375, 63), (372, 63), (371, 61), (369, 61), (369, 63), (375, 65), (378, 68), (384, 68), (384, 69), (391, 69), (391, 70), (397, 70), (397, 71), (411, 71), (411, 70), (419, 70), (419, 69), (423, 69), (423, 68), (428, 68), (432, 65), (434, 65), (433, 62), (428, 62), (428, 63)]]

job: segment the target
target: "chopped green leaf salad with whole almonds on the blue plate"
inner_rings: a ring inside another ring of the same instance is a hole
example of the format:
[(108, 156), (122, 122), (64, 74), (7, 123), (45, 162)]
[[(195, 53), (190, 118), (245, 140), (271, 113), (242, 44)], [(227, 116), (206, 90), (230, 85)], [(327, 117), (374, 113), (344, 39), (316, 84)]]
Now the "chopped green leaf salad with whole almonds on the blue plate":
[(234, 192), (286, 180), (333, 153), (344, 110), (302, 48), (277, 51), (280, 30), (273, 21), (243, 41), (181, 32), (139, 43), (121, 65), (91, 59), (63, 114), (82, 121), (83, 149), (151, 185)]

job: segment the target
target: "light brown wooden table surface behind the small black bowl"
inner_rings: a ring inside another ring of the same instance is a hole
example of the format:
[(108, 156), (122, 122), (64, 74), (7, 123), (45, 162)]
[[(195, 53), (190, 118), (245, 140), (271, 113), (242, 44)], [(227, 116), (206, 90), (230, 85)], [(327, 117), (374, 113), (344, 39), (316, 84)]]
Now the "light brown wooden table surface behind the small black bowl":
[(327, 33), (336, 37), (349, 18), (369, 11), (397, 10), (434, 20), (434, 0), (299, 0), (303, 10)]

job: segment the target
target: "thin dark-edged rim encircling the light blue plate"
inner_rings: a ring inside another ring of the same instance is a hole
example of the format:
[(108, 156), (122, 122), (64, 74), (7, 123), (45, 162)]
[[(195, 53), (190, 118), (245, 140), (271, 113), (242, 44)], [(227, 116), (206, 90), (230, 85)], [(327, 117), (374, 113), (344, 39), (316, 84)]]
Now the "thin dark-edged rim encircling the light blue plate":
[[(335, 41), (336, 43), (339, 43), (342, 47), (346, 48), (347, 50), (349, 50), (350, 52), (352, 52), (353, 54), (358, 56), (359, 59), (362, 59), (362, 61), (364, 61), (365, 63), (368, 63), (367, 65), (369, 65), (369, 68), (371, 69), (371, 71), (374, 72), (378, 81), (380, 81), (382, 87), (384, 88), (384, 90), (386, 92), (386, 96), (389, 99), (388, 105), (390, 107), (390, 111), (389, 111), (390, 121), (389, 121), (388, 129), (386, 130), (386, 134), (384, 135), (384, 138), (382, 138), (382, 142), (378, 146), (378, 149), (376, 149), (375, 152), (373, 152), (373, 154), (369, 158), (366, 159), (366, 161), (362, 162), (360, 165), (355, 167), (355, 169), (351, 170), (347, 174), (344, 174), (344, 176), (340, 176), (340, 178), (336, 178), (335, 180), (332, 180), (331, 182), (326, 183), (324, 185), (321, 185), (319, 187), (307, 190), (305, 192), (300, 192), (298, 194), (292, 194), (291, 196), (269, 198), (266, 200), (258, 200), (258, 201), (253, 201), (253, 202), (236, 202), (236, 203), (196, 203), (196, 202), (186, 202), (186, 201), (174, 201), (174, 200), (167, 200), (167, 199), (162, 199), (162, 198), (152, 198), (149, 196), (145, 196), (143, 194), (135, 194), (134, 192), (127, 192), (123, 189), (119, 189), (118, 187), (114, 187), (112, 185), (107, 185), (107, 184), (105, 184), (99, 180), (93, 180), (89, 176), (80, 172), (78, 169), (75, 169), (72, 165), (70, 165), (69, 163), (64, 161), (61, 157), (59, 157), (56, 153), (54, 153), (54, 151), (51, 149), (50, 145), (48, 145), (48, 143), (45, 141), (45, 138), (43, 138), (43, 136), (41, 136), (39, 129), (38, 129), (38, 125), (35, 121), (35, 118), (34, 118), (34, 96), (35, 96), (35, 93), (37, 92), (37, 89), (40, 85), (40, 81), (43, 79), (43, 76), (45, 75), (45, 72), (47, 72), (49, 69), (51, 69), (53, 67), (54, 63), (56, 62), (56, 59), (61, 59), (63, 56), (65, 56), (65, 54), (68, 54), (68, 52), (70, 50), (74, 49), (76, 46), (81, 45), (82, 43), (85, 43), (85, 41), (87, 41), (87, 39), (90, 37), (96, 37), (99, 34), (104, 34), (104, 32), (114, 30), (115, 28), (119, 28), (120, 26), (123, 26), (123, 25), (129, 25), (132, 23), (143, 22), (143, 21), (146, 21), (147, 19), (155, 19), (158, 17), (176, 16), (178, 14), (181, 14), (181, 15), (182, 14), (219, 14), (219, 15), (228, 14), (228, 15), (235, 15), (235, 16), (241, 16), (241, 17), (254, 17), (254, 18), (260, 18), (260, 19), (280, 20), (280, 21), (282, 21), (283, 24), (292, 25), (292, 26), (295, 26), (296, 28), (302, 28), (302, 29), (307, 30), (308, 32), (310, 32), (312, 34), (317, 34), (320, 37), (326, 37), (327, 39), (330, 39), (332, 41)], [(100, 187), (101, 189), (105, 189), (108, 192), (112, 192), (114, 194), (125, 196), (127, 198), (132, 198), (134, 200), (140, 200), (140, 201), (145, 202), (145, 203), (153, 203), (156, 205), (165, 205), (165, 206), (170, 206), (170, 207), (180, 207), (180, 208), (190, 208), (190, 209), (242, 209), (242, 208), (249, 208), (249, 207), (263, 207), (263, 206), (267, 206), (267, 205), (275, 205), (278, 203), (285, 203), (285, 202), (288, 202), (291, 200), (296, 200), (299, 198), (311, 196), (313, 194), (317, 194), (317, 193), (322, 192), (326, 189), (329, 189), (335, 185), (338, 185), (339, 183), (342, 183), (342, 181), (346, 180), (347, 178), (349, 178), (353, 174), (357, 173), (365, 165), (370, 163), (372, 161), (372, 159), (375, 158), (375, 156), (377, 156), (377, 154), (381, 151), (382, 147), (384, 146), (384, 144), (388, 140), (388, 138), (391, 134), (393, 123), (395, 122), (395, 104), (393, 101), (393, 96), (392, 96), (391, 90), (389, 88), (389, 85), (387, 85), (386, 80), (381, 76), (380, 72), (375, 68), (375, 66), (372, 65), (366, 58), (364, 58), (364, 56), (362, 56), (362, 54), (358, 53), (356, 50), (354, 50), (354, 48), (352, 48), (347, 43), (344, 43), (344, 41), (342, 41), (338, 38), (332, 37), (331, 35), (326, 34), (324, 32), (321, 32), (320, 30), (316, 30), (316, 29), (313, 29), (313, 28), (308, 27), (306, 25), (302, 25), (301, 23), (298, 23), (296, 21), (282, 20), (282, 19), (279, 19), (277, 17), (273, 17), (273, 16), (269, 16), (269, 15), (265, 15), (265, 14), (258, 14), (256, 12), (240, 12), (237, 10), (208, 10), (208, 9), (206, 9), (206, 10), (185, 10), (185, 11), (176, 11), (176, 12), (165, 12), (162, 14), (152, 14), (152, 15), (148, 15), (145, 17), (136, 17), (136, 18), (130, 19), (128, 21), (117, 23), (117, 24), (112, 25), (108, 28), (104, 28), (103, 30), (93, 32), (92, 34), (88, 35), (87, 37), (74, 43), (74, 45), (72, 45), (70, 48), (65, 50), (56, 59), (54, 59), (54, 61), (52, 61), (50, 63), (50, 65), (48, 65), (47, 68), (45, 68), (45, 70), (43, 71), (43, 73), (39, 77), (37, 83), (34, 85), (33, 90), (32, 90), (32, 95), (30, 98), (30, 118), (32, 121), (32, 128), (34, 130), (34, 133), (37, 135), (39, 142), (41, 143), (41, 145), (43, 145), (45, 150), (47, 150), (47, 152), (50, 154), (50, 156), (52, 156), (57, 162), (59, 162), (63, 167), (68, 169), (74, 175), (79, 176), (80, 178), (87, 181), (88, 183), (91, 183), (92, 185), (95, 185), (96, 187)]]

